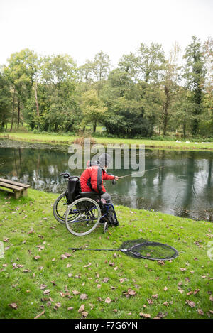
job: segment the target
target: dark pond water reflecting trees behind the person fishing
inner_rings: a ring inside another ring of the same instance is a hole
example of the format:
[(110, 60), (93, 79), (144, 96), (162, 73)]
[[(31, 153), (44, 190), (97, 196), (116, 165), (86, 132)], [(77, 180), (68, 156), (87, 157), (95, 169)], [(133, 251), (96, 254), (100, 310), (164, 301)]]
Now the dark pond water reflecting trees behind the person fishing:
[[(1, 139), (0, 177), (60, 193), (67, 185), (60, 173), (80, 175), (83, 171), (70, 170), (70, 155), (67, 146)], [(143, 177), (123, 178), (116, 185), (104, 182), (115, 204), (213, 221), (213, 152), (146, 149), (145, 168), (157, 169)], [(121, 164), (121, 170), (109, 173), (121, 176), (131, 170)]]

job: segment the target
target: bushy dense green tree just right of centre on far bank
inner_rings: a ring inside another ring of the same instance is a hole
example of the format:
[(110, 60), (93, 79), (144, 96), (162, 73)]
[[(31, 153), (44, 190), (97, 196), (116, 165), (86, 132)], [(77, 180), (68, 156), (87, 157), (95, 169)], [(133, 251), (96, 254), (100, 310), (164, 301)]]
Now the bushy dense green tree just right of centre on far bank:
[(117, 136), (150, 136), (152, 126), (143, 117), (141, 87), (130, 76), (119, 68), (110, 72), (102, 91), (108, 107), (104, 126), (108, 133)]

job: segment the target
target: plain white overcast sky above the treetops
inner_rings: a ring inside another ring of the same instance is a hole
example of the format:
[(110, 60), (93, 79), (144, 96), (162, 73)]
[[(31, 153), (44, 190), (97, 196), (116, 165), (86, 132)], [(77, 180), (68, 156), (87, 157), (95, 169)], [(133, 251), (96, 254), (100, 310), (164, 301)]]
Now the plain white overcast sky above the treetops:
[(77, 65), (103, 50), (116, 66), (141, 42), (184, 51), (192, 35), (213, 35), (213, 0), (0, 0), (0, 65), (30, 48)]

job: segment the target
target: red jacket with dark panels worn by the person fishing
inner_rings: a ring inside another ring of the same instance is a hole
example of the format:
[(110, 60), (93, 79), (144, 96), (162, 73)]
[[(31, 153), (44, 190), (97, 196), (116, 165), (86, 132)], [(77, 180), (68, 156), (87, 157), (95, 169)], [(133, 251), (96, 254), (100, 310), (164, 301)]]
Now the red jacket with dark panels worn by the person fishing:
[(103, 185), (103, 180), (113, 180), (113, 175), (108, 175), (105, 170), (99, 165), (89, 166), (80, 177), (82, 192), (95, 191), (103, 195), (106, 190)]

